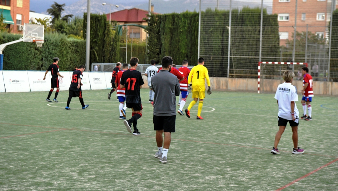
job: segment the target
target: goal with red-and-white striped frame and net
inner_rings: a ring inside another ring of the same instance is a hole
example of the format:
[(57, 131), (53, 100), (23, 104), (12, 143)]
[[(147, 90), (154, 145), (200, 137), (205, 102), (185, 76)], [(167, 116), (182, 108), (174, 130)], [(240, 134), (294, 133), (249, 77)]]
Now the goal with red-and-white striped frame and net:
[[(283, 83), (283, 73), (294, 71), (294, 80), (300, 80), (301, 68), (308, 67), (308, 63), (298, 62), (259, 62), (258, 63), (258, 93), (273, 92), (274, 86)], [(264, 84), (265, 83), (265, 84)]]

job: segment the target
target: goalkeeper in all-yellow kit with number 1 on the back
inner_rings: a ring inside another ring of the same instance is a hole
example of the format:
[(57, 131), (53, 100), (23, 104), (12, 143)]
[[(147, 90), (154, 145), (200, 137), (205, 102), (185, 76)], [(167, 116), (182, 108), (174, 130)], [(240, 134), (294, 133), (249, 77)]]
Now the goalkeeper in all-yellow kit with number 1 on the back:
[(187, 117), (190, 118), (190, 110), (192, 106), (194, 106), (199, 99), (198, 102), (198, 112), (197, 112), (197, 118), (196, 119), (203, 119), (201, 117), (201, 111), (203, 107), (203, 99), (205, 97), (205, 91), (206, 91), (206, 86), (205, 86), (205, 79), (207, 79), (208, 83), (208, 91), (207, 94), (210, 95), (210, 79), (209, 79), (209, 74), (208, 74), (208, 69), (203, 66), (204, 65), (204, 59), (199, 58), (198, 59), (198, 65), (194, 66), (190, 74), (188, 76), (188, 91), (192, 92), (192, 100), (189, 104), (188, 109), (185, 110)]

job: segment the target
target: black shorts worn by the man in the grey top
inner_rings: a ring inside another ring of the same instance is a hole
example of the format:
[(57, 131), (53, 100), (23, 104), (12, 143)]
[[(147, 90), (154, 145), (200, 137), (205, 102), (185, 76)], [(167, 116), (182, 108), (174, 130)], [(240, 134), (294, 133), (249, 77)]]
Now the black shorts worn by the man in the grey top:
[(172, 116), (156, 116), (152, 118), (154, 130), (162, 130), (164, 132), (175, 133), (176, 115)]

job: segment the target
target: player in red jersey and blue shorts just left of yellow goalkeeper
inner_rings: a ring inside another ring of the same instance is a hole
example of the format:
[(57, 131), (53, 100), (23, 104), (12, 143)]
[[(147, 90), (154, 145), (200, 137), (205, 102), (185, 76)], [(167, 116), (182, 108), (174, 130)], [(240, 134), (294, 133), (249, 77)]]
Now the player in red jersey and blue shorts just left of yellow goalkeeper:
[(184, 105), (186, 104), (186, 99), (187, 99), (188, 94), (189, 94), (189, 92), (188, 92), (188, 76), (189, 76), (189, 73), (190, 73), (190, 69), (187, 68), (187, 66), (188, 66), (188, 61), (184, 60), (182, 62), (182, 67), (180, 67), (178, 69), (178, 71), (180, 73), (183, 73), (183, 75), (184, 75), (184, 80), (179, 82), (179, 88), (180, 88), (180, 91), (181, 91), (181, 94), (180, 94), (180, 97), (179, 97), (180, 105), (179, 105), (179, 109), (177, 111), (177, 113), (179, 113), (179, 115), (184, 115), (182, 111), (183, 111)]

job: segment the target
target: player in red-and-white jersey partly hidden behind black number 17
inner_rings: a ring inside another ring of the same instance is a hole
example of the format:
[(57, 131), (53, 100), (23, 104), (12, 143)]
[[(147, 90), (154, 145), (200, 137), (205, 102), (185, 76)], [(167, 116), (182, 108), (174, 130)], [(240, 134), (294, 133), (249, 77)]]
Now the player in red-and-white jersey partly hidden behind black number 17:
[[(119, 119), (126, 119), (126, 112), (127, 109), (126, 103), (124, 103), (126, 98), (126, 88), (120, 87), (120, 80), (124, 71), (128, 70), (128, 64), (122, 65), (122, 70), (119, 71), (116, 75), (115, 79), (115, 87), (117, 87), (116, 96), (119, 99), (119, 111), (120, 111), (120, 118)], [(124, 104), (124, 105), (123, 105)]]

